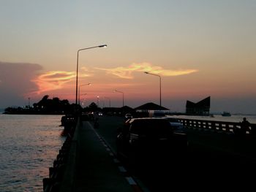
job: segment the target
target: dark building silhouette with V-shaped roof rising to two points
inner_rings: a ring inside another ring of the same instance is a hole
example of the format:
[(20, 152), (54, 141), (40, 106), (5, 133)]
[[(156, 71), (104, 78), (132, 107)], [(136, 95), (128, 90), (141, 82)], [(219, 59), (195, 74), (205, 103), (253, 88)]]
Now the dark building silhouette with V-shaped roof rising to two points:
[(187, 101), (186, 114), (208, 116), (210, 114), (210, 96), (197, 103)]

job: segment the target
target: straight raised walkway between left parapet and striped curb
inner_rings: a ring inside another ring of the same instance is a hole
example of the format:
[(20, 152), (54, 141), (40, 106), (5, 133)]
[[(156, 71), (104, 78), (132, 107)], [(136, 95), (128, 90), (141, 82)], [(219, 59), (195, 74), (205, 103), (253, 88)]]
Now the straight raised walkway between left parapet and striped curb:
[(89, 122), (83, 121), (78, 126), (73, 142), (77, 147), (70, 151), (71, 158), (60, 191), (140, 191)]

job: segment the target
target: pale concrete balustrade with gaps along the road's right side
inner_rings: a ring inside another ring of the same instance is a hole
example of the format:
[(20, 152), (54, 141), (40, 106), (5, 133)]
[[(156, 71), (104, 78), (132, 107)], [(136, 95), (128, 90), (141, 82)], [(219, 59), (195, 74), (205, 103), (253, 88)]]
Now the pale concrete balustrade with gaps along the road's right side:
[[(185, 128), (198, 129), (198, 130), (210, 130), (217, 132), (225, 132), (228, 134), (242, 134), (241, 123), (215, 121), (215, 120), (195, 120), (178, 118), (183, 123)], [(250, 123), (244, 134), (256, 135), (256, 123)]]

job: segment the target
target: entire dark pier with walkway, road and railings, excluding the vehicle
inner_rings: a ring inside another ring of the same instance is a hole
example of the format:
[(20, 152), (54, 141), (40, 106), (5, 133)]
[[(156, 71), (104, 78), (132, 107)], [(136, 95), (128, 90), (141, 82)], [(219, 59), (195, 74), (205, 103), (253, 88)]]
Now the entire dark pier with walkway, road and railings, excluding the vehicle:
[(245, 191), (253, 187), (255, 179), (250, 176), (256, 172), (253, 131), (237, 137), (233, 128), (239, 127), (239, 123), (181, 121), (187, 127), (187, 156), (165, 164), (161, 164), (161, 159), (148, 159), (138, 169), (130, 169), (116, 157), (116, 130), (123, 118), (100, 117), (97, 129), (90, 121), (78, 121), (50, 167), (49, 177), (43, 180), (44, 192), (171, 191), (176, 187), (185, 189), (186, 185), (190, 189), (203, 189), (202, 183), (212, 188), (241, 187)]

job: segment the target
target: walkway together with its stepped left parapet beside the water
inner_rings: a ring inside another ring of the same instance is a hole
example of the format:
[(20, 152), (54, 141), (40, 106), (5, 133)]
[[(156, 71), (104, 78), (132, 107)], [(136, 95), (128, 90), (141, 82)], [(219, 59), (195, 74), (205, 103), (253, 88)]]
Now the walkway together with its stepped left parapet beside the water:
[(49, 178), (43, 180), (45, 192), (140, 191), (89, 121), (78, 121), (71, 137), (50, 167)]

